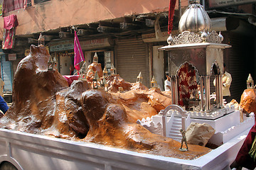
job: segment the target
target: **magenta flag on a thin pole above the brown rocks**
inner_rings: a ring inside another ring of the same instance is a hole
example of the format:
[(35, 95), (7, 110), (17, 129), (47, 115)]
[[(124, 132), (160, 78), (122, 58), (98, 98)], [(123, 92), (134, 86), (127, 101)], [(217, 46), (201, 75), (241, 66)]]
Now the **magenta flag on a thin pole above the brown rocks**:
[(80, 42), (78, 40), (78, 35), (76, 34), (76, 31), (75, 31), (75, 40), (74, 40), (74, 53), (75, 53), (74, 67), (79, 72), (79, 70), (80, 70), (79, 63), (82, 61), (85, 61), (85, 57), (82, 53), (82, 48), (80, 46)]

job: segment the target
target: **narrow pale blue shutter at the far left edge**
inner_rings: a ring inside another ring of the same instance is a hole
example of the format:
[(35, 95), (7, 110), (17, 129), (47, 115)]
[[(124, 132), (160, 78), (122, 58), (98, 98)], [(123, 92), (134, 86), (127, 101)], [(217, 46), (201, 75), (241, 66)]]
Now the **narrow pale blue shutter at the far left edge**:
[(6, 61), (6, 55), (1, 55), (1, 77), (4, 81), (4, 92), (12, 92), (12, 67), (11, 62)]

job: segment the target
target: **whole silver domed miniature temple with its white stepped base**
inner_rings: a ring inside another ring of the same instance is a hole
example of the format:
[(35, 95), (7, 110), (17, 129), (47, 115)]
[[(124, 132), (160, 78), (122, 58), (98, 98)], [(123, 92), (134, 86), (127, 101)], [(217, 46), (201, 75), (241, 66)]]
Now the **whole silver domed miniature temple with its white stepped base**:
[[(210, 125), (215, 130), (210, 142), (215, 145), (227, 142), (254, 123), (251, 117), (240, 123), (240, 111), (232, 104), (223, 103), (223, 50), (231, 46), (222, 44), (223, 35), (210, 31), (210, 26), (203, 6), (191, 0), (179, 22), (180, 34), (174, 38), (170, 35), (169, 45), (159, 48), (168, 52), (172, 103), (149, 121), (161, 124), (162, 134), (177, 141), (183, 140), (177, 128), (186, 130), (191, 123)], [(214, 101), (210, 100), (212, 75), (216, 80)], [(247, 86), (249, 84), (251, 87), (252, 81), (248, 78)]]

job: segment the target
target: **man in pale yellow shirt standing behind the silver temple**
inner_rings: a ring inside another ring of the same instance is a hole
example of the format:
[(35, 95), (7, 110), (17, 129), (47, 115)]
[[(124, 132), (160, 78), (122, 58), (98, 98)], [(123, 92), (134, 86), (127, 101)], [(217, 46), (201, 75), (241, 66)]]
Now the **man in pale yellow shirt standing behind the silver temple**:
[[(225, 99), (225, 101), (227, 101), (227, 103), (230, 103), (231, 99), (230, 98), (230, 85), (231, 85), (231, 81), (232, 81), (232, 77), (231, 74), (229, 74), (228, 72), (225, 71), (226, 67), (225, 67), (225, 63), (223, 64), (224, 67), (224, 74), (223, 74), (223, 98)], [(216, 81), (214, 79), (213, 81), (213, 85), (216, 86)]]

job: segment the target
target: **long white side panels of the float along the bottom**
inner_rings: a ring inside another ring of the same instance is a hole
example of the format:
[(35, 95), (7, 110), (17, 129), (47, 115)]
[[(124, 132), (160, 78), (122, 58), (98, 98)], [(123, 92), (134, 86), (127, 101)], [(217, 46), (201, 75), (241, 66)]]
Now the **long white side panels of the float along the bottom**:
[(233, 162), (250, 129), (198, 159), (141, 154), (88, 142), (0, 129), (0, 163), (21, 169), (225, 169)]

